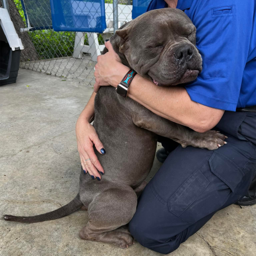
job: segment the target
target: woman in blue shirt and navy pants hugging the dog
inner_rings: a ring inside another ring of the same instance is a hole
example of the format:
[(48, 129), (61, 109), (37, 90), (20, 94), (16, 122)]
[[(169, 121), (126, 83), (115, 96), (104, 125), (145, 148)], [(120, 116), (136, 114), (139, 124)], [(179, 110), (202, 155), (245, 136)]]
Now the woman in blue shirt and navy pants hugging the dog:
[[(145, 187), (130, 231), (140, 244), (164, 254), (177, 249), (216, 211), (248, 196), (248, 189), (253, 204), (256, 163), (255, 1), (153, 0), (148, 10), (167, 7), (183, 10), (196, 26), (203, 71), (184, 87), (170, 88), (136, 75), (128, 97), (197, 132), (218, 129), (228, 143), (207, 151), (162, 139), (172, 152)], [(105, 46), (109, 53), (98, 57), (95, 92), (76, 124), (82, 167), (98, 180), (104, 170), (93, 144), (101, 154), (105, 150), (90, 124), (94, 98), (100, 86), (117, 87), (129, 71), (110, 42)]]

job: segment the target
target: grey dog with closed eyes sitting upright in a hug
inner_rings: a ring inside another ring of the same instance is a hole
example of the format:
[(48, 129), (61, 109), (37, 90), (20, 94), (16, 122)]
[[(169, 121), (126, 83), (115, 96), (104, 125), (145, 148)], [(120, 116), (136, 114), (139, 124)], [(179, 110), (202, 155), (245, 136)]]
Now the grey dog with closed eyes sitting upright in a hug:
[[(194, 80), (202, 70), (196, 28), (178, 9), (147, 12), (117, 30), (110, 41), (124, 65), (158, 86)], [(89, 222), (81, 229), (80, 238), (129, 247), (134, 240), (122, 226), (135, 214), (137, 195), (146, 185), (155, 157), (157, 135), (183, 147), (209, 150), (224, 145), (225, 139), (216, 131), (197, 133), (157, 116), (131, 98), (119, 96), (113, 87), (98, 91), (93, 125), (107, 152), (100, 155), (95, 150), (105, 170), (102, 180), (92, 180), (81, 170), (79, 194), (69, 204), (38, 216), (5, 215), (4, 220), (48, 221), (83, 207), (88, 209)]]

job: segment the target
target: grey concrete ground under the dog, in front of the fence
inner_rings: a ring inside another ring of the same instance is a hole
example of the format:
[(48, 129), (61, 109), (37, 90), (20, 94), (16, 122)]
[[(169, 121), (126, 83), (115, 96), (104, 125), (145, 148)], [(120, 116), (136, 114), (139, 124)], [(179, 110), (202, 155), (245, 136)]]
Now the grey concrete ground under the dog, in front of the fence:
[[(92, 87), (30, 70), (0, 87), (0, 214), (36, 215), (72, 200), (80, 161), (75, 123)], [(155, 160), (148, 179), (160, 167)], [(97, 181), (96, 181), (97, 182)], [(86, 211), (34, 224), (0, 220), (1, 256), (161, 255), (136, 243), (128, 249), (83, 241)], [(256, 255), (256, 205), (219, 211), (170, 255)]]

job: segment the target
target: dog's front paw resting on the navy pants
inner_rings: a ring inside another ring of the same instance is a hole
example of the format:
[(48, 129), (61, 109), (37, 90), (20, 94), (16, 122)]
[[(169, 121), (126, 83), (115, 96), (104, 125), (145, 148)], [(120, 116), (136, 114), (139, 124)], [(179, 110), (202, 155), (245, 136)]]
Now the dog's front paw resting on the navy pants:
[(194, 146), (207, 148), (208, 150), (217, 150), (220, 146), (227, 144), (225, 141), (227, 136), (221, 134), (218, 131), (208, 131), (205, 133), (193, 133), (191, 141), (181, 144), (182, 147)]

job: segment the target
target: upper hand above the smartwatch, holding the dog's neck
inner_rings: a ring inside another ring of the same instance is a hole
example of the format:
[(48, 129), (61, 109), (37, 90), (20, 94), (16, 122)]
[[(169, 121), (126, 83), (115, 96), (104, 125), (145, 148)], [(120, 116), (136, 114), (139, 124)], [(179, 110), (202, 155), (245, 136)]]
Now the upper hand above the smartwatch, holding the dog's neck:
[[(105, 42), (105, 47), (109, 52), (99, 55), (95, 65), (95, 84), (94, 92), (97, 92), (100, 86), (114, 86), (122, 80), (124, 75), (130, 70), (124, 66), (121, 59), (114, 51), (110, 41)], [(121, 78), (120, 78), (121, 77)]]

